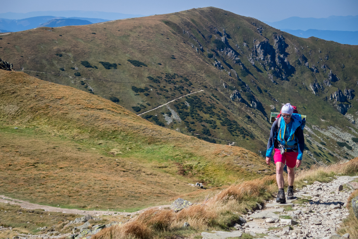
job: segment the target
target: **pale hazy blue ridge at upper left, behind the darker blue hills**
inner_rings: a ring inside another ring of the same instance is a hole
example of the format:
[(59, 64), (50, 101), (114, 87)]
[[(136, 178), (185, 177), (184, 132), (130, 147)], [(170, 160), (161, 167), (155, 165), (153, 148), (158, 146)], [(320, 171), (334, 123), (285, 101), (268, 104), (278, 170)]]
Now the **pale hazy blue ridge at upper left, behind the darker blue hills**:
[[(35, 16), (62, 16), (64, 18), (100, 18), (100, 19), (109, 19), (117, 20), (124, 18), (140, 18), (144, 15), (134, 15), (134, 14), (122, 14), (122, 13), (106, 13), (103, 11), (33, 11), (29, 13), (0, 13), (0, 18), (5, 19), (24, 19), (32, 18)], [(81, 19), (87, 20), (87, 19)]]

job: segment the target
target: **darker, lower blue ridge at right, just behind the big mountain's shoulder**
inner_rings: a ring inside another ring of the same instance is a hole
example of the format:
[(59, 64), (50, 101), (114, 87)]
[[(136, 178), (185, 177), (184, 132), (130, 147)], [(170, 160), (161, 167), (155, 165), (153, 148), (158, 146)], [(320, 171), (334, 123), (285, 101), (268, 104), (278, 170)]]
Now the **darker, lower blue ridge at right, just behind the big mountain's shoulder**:
[(281, 31), (286, 31), (287, 33), (303, 38), (314, 36), (316, 38), (339, 42), (341, 44), (358, 45), (358, 31), (329, 31), (315, 29), (308, 29), (307, 31), (281, 29)]

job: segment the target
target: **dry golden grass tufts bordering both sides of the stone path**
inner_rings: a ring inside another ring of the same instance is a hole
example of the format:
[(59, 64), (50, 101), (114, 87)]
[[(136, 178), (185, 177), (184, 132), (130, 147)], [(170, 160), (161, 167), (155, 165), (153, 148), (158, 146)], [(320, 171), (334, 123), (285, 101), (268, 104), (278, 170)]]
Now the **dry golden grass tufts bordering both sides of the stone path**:
[[(358, 157), (343, 164), (338, 163), (302, 171), (297, 176), (297, 180), (325, 181), (331, 174), (334, 176), (335, 174), (343, 175), (357, 172)], [(92, 239), (125, 239), (128, 236), (146, 239), (147, 235), (152, 238), (160, 238), (164, 231), (175, 234), (175, 231), (181, 228), (185, 222), (188, 222), (192, 228), (198, 231), (228, 229), (233, 222), (237, 221), (240, 213), (245, 213), (247, 209), (255, 207), (256, 203), (262, 203), (263, 200), (269, 199), (272, 197), (272, 193), (276, 191), (275, 175), (245, 181), (239, 185), (232, 185), (202, 203), (182, 209), (178, 213), (173, 213), (170, 210), (147, 210), (122, 226), (103, 230), (103, 232), (93, 236)], [(357, 195), (358, 190), (350, 196), (349, 202)], [(348, 232), (352, 239), (357, 239), (358, 221), (354, 218), (351, 208), (349, 218), (344, 220), (343, 223), (339, 233)], [(138, 230), (136, 235), (133, 232), (134, 228)]]

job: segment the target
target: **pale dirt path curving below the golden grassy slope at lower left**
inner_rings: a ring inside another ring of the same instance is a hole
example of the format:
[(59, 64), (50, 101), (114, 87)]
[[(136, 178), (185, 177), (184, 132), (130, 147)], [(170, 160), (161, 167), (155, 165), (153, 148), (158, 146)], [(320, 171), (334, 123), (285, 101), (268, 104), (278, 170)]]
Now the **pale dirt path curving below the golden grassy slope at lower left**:
[(143, 211), (148, 210), (148, 209), (168, 208), (170, 206), (170, 205), (154, 206), (154, 207), (145, 208), (145, 209), (142, 209), (139, 211), (135, 211), (133, 213), (127, 213), (125, 211), (99, 211), (99, 210), (89, 211), (89, 210), (56, 208), (56, 207), (52, 207), (52, 206), (39, 205), (39, 204), (30, 203), (28, 201), (12, 199), (11, 197), (7, 197), (4, 195), (0, 195), (0, 203), (9, 203), (11, 205), (19, 205), (19, 206), (21, 206), (21, 208), (26, 208), (26, 209), (43, 209), (43, 210), (47, 210), (47, 211), (55, 211), (58, 213), (72, 213), (72, 214), (79, 214), (79, 215), (89, 214), (91, 216), (114, 215), (114, 213), (116, 213), (116, 215), (134, 215), (137, 213), (142, 213)]

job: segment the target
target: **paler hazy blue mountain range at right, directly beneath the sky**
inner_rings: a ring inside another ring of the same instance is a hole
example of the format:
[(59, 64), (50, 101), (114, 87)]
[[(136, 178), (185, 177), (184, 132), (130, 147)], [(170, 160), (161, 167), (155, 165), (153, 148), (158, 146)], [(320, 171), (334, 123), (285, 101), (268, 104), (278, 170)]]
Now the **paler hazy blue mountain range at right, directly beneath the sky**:
[(357, 16), (329, 16), (328, 18), (299, 18), (293, 16), (281, 21), (266, 22), (277, 29), (303, 30), (333, 30), (333, 31), (358, 31)]

